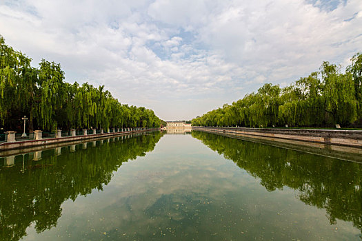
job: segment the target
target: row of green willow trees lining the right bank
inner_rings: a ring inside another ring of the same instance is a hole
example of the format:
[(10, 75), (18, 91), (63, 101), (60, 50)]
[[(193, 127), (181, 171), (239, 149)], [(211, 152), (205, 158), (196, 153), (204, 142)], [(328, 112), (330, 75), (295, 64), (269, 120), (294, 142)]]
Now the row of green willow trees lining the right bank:
[(290, 86), (267, 83), (232, 105), (225, 104), (192, 119), (192, 125), (271, 127), (362, 126), (362, 53), (341, 72), (340, 65), (323, 62), (319, 72)]

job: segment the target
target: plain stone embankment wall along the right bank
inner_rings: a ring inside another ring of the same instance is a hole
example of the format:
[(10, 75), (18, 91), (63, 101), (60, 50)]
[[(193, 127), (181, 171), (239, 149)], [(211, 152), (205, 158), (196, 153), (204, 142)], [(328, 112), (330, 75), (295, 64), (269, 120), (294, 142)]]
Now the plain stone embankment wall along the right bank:
[(362, 131), (334, 129), (269, 129), (245, 127), (192, 127), (194, 130), (235, 134), (251, 138), (280, 138), (311, 143), (362, 148)]

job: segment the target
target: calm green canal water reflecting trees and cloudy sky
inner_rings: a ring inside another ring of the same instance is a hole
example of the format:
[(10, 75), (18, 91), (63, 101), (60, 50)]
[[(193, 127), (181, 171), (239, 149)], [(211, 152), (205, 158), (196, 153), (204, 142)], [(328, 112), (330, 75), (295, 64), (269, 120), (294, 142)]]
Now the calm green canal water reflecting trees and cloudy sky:
[(0, 240), (361, 240), (362, 164), (203, 132), (0, 158)]

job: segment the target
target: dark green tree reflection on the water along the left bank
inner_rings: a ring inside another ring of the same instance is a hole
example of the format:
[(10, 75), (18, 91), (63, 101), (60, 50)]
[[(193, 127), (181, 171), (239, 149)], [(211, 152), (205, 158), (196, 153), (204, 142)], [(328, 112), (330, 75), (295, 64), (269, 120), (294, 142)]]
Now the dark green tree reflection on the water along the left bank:
[(38, 233), (55, 227), (64, 201), (102, 190), (123, 162), (145, 156), (162, 135), (101, 140), (77, 145), (75, 152), (74, 146), (62, 147), (61, 155), (58, 147), (43, 151), (38, 161), (26, 154), (25, 171), (23, 155), (15, 158), (19, 165), (0, 167), (0, 240), (21, 239), (32, 223)]

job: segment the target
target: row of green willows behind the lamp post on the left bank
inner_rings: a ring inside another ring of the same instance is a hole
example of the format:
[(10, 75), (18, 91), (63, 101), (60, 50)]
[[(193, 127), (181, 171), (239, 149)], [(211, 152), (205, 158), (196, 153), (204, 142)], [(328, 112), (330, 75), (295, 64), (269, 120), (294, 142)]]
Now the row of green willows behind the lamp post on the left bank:
[(0, 127), (21, 128), (26, 115), (30, 131), (110, 127), (159, 127), (151, 109), (119, 103), (104, 86), (64, 82), (59, 63), (32, 59), (6, 45), (0, 35)]

